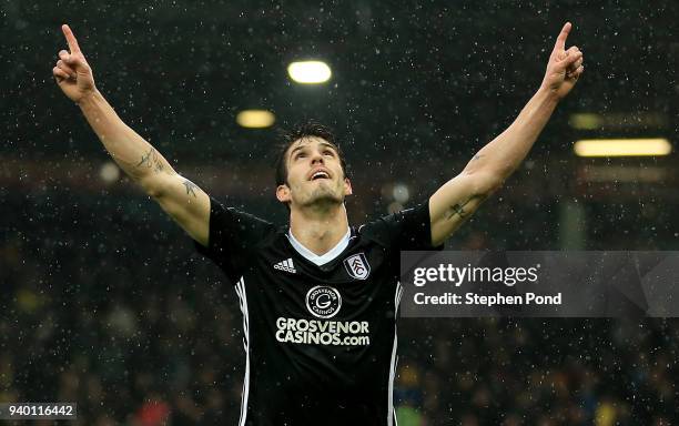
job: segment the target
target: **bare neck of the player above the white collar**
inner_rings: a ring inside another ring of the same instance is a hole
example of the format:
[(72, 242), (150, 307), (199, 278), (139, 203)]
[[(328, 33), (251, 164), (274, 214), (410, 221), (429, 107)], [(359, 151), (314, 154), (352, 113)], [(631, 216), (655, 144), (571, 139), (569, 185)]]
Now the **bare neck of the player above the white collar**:
[(337, 245), (347, 229), (344, 203), (324, 209), (294, 209), (290, 212), (290, 232), (302, 245), (320, 256)]

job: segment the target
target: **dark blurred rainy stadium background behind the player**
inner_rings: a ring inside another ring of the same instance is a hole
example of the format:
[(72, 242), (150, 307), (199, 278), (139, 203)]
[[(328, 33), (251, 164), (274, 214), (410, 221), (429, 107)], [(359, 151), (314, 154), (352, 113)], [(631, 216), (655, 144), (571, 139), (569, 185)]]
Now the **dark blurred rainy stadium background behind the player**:
[[(235, 424), (236, 297), (110, 160), (51, 69), (69, 23), (100, 91), (211, 195), (284, 223), (275, 129), (333, 126), (349, 220), (424, 201), (537, 90), (563, 23), (585, 75), (454, 250), (678, 250), (676, 154), (579, 159), (580, 138), (679, 133), (675, 1), (0, 2), (0, 402), (72, 400), (79, 424)], [(328, 83), (286, 65), (322, 59)], [(578, 130), (574, 114), (601, 124)], [(592, 176), (607, 175), (606, 179)], [(401, 205), (394, 184), (411, 197)], [(403, 425), (670, 424), (675, 320), (401, 322)], [(154, 403), (155, 402), (155, 403)], [(155, 422), (155, 423), (154, 423)]]

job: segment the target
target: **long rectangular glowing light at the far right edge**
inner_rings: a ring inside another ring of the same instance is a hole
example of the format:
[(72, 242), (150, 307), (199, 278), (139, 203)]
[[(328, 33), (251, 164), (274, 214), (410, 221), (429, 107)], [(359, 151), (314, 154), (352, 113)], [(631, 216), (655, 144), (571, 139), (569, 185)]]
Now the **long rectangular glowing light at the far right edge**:
[(668, 155), (672, 145), (667, 139), (586, 139), (572, 146), (579, 156)]

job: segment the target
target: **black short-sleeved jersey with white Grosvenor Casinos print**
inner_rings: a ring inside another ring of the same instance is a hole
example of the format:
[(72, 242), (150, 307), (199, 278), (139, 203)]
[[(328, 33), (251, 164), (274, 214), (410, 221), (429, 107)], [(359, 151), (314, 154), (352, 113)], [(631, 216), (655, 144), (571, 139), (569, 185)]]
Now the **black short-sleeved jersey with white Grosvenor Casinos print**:
[(393, 425), (399, 251), (429, 250), (427, 203), (351, 227), (318, 266), (277, 227), (211, 197), (212, 258), (235, 284), (246, 353), (239, 425)]

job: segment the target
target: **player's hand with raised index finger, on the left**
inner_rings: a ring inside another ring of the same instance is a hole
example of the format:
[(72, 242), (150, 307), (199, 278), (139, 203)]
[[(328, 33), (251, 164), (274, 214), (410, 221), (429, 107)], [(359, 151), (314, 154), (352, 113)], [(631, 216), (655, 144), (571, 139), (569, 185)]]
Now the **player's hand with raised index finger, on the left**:
[(97, 90), (92, 69), (80, 51), (73, 31), (67, 24), (61, 26), (61, 30), (69, 43), (70, 52), (59, 51), (59, 60), (52, 69), (52, 73), (63, 93), (72, 101), (80, 102), (83, 97)]

